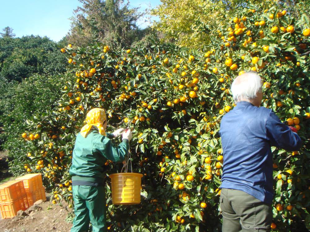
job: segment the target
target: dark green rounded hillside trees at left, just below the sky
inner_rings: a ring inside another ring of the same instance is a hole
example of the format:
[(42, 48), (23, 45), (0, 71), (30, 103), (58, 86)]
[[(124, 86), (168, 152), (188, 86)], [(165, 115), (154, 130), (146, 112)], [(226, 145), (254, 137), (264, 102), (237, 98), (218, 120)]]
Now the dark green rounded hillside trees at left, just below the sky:
[(66, 71), (58, 46), (47, 37), (0, 38), (0, 76), (8, 81), (32, 74), (53, 75)]

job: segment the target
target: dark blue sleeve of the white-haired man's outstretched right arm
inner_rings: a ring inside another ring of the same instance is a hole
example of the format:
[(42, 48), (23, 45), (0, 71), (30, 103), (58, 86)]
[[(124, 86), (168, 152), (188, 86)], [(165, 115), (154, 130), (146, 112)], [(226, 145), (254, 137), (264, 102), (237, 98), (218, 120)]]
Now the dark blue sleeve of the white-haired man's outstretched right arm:
[(302, 142), (297, 133), (280, 121), (278, 116), (270, 111), (266, 122), (267, 138), (271, 146), (279, 147), (287, 151), (297, 151)]

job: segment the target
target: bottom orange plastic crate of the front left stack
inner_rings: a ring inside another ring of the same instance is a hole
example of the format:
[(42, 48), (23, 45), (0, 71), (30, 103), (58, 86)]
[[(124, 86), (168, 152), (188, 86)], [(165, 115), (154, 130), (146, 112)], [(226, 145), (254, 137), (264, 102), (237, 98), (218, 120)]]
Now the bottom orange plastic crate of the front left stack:
[(0, 203), (0, 211), (2, 218), (12, 218), (17, 215), (19, 210), (26, 210), (29, 208), (26, 195), (17, 200), (2, 201)]

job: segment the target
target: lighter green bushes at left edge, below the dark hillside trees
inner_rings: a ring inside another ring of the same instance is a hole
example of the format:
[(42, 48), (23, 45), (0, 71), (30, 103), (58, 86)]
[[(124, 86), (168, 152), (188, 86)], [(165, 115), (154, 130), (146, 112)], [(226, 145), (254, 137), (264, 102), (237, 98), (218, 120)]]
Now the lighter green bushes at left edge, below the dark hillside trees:
[[(0, 139), (4, 141), (2, 148), (10, 150), (16, 160), (20, 163), (19, 152), (23, 150), (16, 135), (26, 129), (25, 122), (33, 114), (41, 114), (42, 111), (52, 110), (55, 100), (59, 98), (60, 85), (71, 77), (70, 74), (41, 76), (33, 75), (24, 79), (21, 83), (6, 83), (1, 81), (0, 92), (0, 125), (3, 133)], [(21, 156), (21, 158), (24, 158)], [(14, 172), (14, 174), (19, 174)]]

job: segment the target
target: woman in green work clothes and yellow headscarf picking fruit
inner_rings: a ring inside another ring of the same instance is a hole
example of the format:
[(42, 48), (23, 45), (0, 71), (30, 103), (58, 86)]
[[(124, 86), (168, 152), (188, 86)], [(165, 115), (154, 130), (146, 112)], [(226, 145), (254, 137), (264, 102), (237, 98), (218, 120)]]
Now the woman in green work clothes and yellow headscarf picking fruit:
[[(124, 131), (123, 128), (112, 134), (106, 133), (106, 115), (100, 108), (90, 110), (86, 115), (86, 122), (77, 135), (69, 171), (72, 176), (75, 213), (71, 232), (88, 231), (90, 222), (94, 232), (105, 232), (104, 164), (108, 160), (124, 161), (132, 134), (130, 129)], [(115, 147), (110, 139), (120, 135), (122, 143)]]

